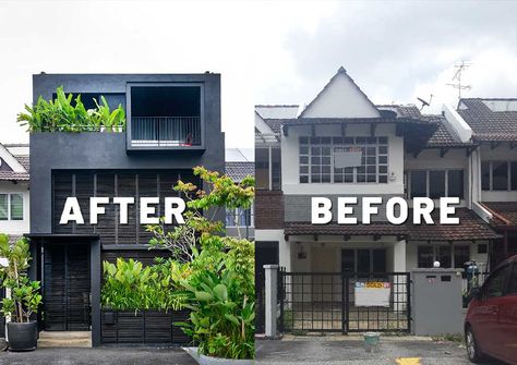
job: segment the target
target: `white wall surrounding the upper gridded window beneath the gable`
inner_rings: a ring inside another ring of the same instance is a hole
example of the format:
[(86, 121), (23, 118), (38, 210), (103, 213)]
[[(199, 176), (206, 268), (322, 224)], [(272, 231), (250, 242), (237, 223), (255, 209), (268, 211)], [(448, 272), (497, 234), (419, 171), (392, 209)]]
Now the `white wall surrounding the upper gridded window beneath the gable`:
[[(340, 125), (316, 125), (316, 136), (339, 136)], [(404, 138), (395, 135), (395, 124), (381, 124), (375, 130), (375, 136), (388, 137), (388, 173), (395, 180), (387, 183), (299, 183), (299, 137), (311, 136), (311, 127), (308, 125), (289, 126), (289, 135), (281, 136), (281, 160), (292, 163), (281, 165), (284, 194), (404, 194)], [(370, 136), (370, 124), (349, 124), (346, 136)]]

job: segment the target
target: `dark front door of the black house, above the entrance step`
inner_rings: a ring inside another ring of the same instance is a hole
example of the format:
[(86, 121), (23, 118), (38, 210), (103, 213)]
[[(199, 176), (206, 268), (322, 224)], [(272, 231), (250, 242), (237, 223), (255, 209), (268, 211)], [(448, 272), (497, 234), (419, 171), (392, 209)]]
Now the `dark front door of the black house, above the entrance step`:
[(45, 330), (89, 330), (89, 246), (47, 244), (44, 258)]

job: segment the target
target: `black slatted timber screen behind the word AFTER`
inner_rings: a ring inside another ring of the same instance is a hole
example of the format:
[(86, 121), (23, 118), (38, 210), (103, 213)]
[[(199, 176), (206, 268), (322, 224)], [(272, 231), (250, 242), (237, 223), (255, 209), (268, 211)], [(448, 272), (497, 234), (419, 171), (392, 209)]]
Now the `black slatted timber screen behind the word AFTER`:
[[(99, 234), (103, 245), (147, 244), (152, 233), (140, 223), (140, 197), (160, 197), (157, 215), (164, 216), (164, 197), (178, 196), (173, 186), (178, 180), (199, 184), (199, 178), (191, 170), (127, 171), (127, 170), (77, 170), (53, 171), (52, 173), (52, 233)], [(118, 206), (106, 205), (106, 214), (98, 224), (89, 224), (91, 197), (134, 197), (135, 204), (128, 209), (128, 224), (119, 223)], [(68, 197), (76, 197), (85, 224), (60, 224), (61, 214)]]

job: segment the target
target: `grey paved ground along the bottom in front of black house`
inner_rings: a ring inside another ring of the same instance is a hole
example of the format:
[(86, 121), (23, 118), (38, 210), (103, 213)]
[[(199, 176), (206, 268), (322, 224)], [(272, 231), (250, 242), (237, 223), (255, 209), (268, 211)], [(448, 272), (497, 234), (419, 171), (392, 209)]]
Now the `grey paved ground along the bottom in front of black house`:
[(0, 352), (0, 365), (194, 365), (181, 349), (38, 349), (34, 352)]

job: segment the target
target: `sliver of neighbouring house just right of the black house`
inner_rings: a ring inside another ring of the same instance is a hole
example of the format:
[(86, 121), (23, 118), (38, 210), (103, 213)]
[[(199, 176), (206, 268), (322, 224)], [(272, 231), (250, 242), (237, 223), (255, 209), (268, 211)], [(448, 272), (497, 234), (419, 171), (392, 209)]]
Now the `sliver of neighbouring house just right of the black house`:
[[(225, 172), (235, 182), (241, 182), (255, 173), (254, 149), (227, 148)], [(226, 231), (229, 235), (253, 240), (255, 235), (253, 208), (226, 211)]]

